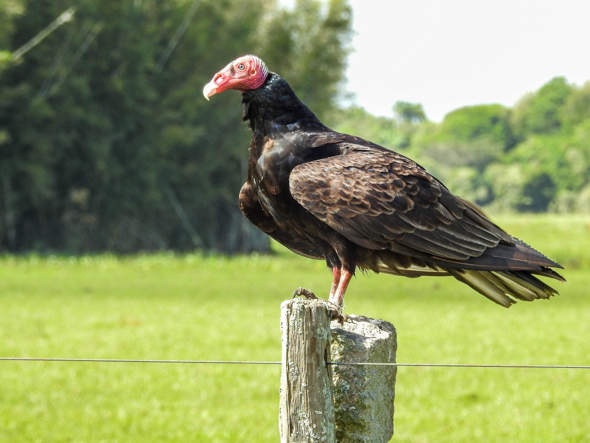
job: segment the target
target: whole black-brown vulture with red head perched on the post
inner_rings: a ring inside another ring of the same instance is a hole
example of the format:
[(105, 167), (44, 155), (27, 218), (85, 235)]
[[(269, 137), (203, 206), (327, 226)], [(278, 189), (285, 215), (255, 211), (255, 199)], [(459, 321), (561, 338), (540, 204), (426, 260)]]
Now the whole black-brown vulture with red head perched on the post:
[(557, 294), (535, 275), (565, 281), (551, 269), (562, 266), (416, 162), (324, 126), (260, 58), (232, 61), (203, 95), (209, 100), (228, 89), (242, 92), (252, 129), (240, 208), (284, 246), (326, 260), (329, 301), (342, 306), (356, 269), (453, 276), (504, 307)]

